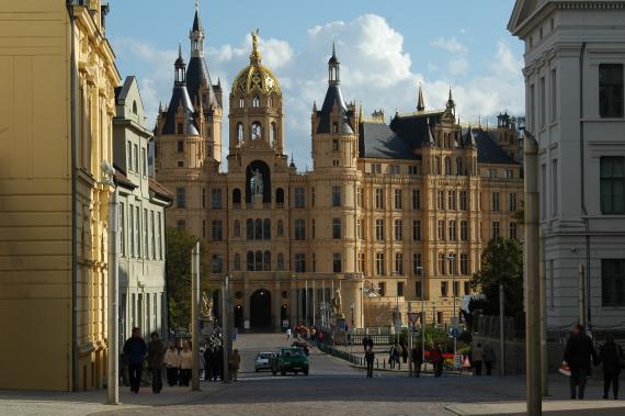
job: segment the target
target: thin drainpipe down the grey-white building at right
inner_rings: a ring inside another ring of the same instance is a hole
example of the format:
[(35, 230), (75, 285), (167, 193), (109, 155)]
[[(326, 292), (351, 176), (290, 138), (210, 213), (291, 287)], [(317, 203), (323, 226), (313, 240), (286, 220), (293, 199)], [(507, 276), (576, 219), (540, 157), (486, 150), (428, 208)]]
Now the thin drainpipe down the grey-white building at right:
[(586, 207), (586, 187), (584, 187), (584, 149), (583, 149), (583, 58), (586, 55), (586, 42), (581, 44), (579, 54), (579, 159), (580, 159), (580, 203), (583, 214), (584, 239), (586, 239), (586, 308), (587, 308), (587, 331), (591, 331), (590, 316), (590, 224), (588, 221), (588, 210)]

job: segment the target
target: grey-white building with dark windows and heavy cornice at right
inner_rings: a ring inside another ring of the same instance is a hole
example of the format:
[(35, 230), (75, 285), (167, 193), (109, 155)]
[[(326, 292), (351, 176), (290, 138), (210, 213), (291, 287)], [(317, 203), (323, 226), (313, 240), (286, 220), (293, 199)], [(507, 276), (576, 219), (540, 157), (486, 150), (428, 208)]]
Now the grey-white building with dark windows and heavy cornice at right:
[(625, 1), (518, 0), (526, 131), (539, 144), (547, 325), (625, 323)]

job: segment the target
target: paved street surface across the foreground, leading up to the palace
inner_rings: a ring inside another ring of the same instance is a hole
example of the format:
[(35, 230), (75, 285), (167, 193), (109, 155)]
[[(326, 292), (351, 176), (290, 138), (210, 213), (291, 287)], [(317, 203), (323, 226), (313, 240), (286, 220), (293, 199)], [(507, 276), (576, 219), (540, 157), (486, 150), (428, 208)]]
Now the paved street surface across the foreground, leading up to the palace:
[[(425, 375), (409, 379), (396, 372), (364, 371), (318, 350), (310, 352), (310, 375), (257, 373), (253, 358), (286, 345), (283, 335), (242, 335), (239, 381), (202, 383), (202, 392), (164, 387), (160, 395), (144, 389), (134, 395), (122, 389), (122, 406), (106, 406), (104, 391), (78, 394), (0, 392), (0, 415), (496, 415), (524, 414), (525, 381), (507, 376)], [(623, 401), (556, 401), (566, 398), (566, 379), (554, 378), (549, 415), (625, 415)], [(601, 397), (600, 381), (591, 380), (587, 397)], [(615, 408), (614, 406), (621, 406)], [(600, 406), (611, 406), (600, 408)], [(589, 407), (586, 408), (584, 407)], [(576, 412), (579, 411), (579, 412)]]

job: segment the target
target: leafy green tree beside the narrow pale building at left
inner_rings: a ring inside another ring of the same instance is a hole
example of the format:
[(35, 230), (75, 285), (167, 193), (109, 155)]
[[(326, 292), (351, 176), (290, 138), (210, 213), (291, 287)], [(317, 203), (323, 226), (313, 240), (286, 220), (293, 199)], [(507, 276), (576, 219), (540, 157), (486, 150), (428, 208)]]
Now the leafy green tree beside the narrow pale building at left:
[[(197, 237), (184, 229), (167, 229), (167, 307), (170, 328), (189, 328), (191, 323), (191, 250)], [(200, 276), (206, 277), (206, 250), (200, 244)]]

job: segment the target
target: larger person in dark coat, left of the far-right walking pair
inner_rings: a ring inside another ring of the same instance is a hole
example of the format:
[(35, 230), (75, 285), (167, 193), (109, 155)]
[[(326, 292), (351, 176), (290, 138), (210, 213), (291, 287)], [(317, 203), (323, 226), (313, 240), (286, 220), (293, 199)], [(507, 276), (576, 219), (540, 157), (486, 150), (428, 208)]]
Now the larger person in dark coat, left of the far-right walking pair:
[(599, 360), (592, 340), (588, 335), (583, 334), (583, 327), (581, 325), (575, 325), (565, 348), (564, 356), (564, 363), (568, 364), (571, 371), (571, 400), (576, 398), (576, 386), (578, 385), (577, 398), (583, 400), (586, 380), (588, 375), (590, 375), (591, 358), (594, 362)]

